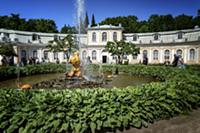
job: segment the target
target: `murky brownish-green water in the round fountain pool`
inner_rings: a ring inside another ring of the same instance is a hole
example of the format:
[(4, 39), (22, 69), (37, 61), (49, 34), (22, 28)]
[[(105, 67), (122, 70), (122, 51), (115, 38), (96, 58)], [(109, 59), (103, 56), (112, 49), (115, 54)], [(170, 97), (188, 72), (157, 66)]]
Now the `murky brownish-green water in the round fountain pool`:
[[(119, 75), (114, 75), (108, 78), (108, 74), (105, 74), (106, 84), (103, 87), (112, 88), (112, 87), (127, 87), (141, 85), (144, 83), (158, 82), (156, 78), (151, 76), (135, 76), (131, 74), (121, 73)], [(43, 75), (33, 75), (28, 77), (21, 77), (20, 82), (23, 84), (36, 84), (42, 81), (48, 81), (52, 79), (61, 79), (64, 78), (64, 74), (43, 74)], [(16, 88), (16, 79), (10, 79), (6, 81), (0, 81), (0, 88)]]

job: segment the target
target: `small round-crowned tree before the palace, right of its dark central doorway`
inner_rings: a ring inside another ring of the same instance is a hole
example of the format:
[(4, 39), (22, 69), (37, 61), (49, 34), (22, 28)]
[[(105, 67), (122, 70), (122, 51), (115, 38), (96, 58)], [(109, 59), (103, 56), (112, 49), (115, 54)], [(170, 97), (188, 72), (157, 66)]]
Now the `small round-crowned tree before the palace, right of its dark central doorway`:
[(135, 44), (125, 41), (107, 42), (106, 50), (117, 57), (117, 64), (122, 64), (125, 55), (138, 55), (140, 49)]

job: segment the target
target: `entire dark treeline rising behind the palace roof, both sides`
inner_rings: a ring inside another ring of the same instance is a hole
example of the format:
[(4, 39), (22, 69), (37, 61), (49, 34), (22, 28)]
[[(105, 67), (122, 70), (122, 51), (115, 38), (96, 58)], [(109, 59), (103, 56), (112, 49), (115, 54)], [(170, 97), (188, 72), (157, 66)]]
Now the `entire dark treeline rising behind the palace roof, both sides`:
[[(81, 20), (81, 33), (86, 33), (85, 29), (89, 24), (89, 17), (86, 13), (85, 20)], [(160, 32), (171, 30), (191, 29), (195, 26), (200, 27), (200, 9), (197, 10), (196, 16), (180, 14), (172, 16), (171, 14), (159, 15), (152, 14), (147, 20), (138, 20), (137, 16), (117, 16), (106, 18), (99, 24), (112, 24), (118, 26), (122, 24), (124, 33), (143, 33), (143, 32)], [(91, 26), (96, 26), (95, 16), (92, 15)], [(0, 28), (57, 33), (57, 26), (54, 20), (51, 19), (24, 19), (20, 18), (19, 14), (11, 14), (9, 16), (0, 16)], [(64, 25), (61, 33), (74, 34), (76, 33), (75, 26)]]

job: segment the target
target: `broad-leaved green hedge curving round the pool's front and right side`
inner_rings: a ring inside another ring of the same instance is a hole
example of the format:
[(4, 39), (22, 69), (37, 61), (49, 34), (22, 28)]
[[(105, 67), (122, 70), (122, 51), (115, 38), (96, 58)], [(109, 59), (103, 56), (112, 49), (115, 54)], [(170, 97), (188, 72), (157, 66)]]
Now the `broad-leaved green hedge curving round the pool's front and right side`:
[(188, 70), (141, 65), (103, 70), (115, 67), (165, 82), (113, 89), (0, 89), (0, 128), (9, 133), (141, 128), (200, 107), (200, 78)]

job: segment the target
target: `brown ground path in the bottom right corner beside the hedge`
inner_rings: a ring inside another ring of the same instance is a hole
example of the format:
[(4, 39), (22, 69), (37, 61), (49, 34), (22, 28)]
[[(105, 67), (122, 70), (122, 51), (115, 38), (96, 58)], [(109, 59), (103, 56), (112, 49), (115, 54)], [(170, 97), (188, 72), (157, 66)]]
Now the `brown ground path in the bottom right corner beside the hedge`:
[(148, 128), (131, 128), (117, 133), (200, 133), (200, 109), (194, 110), (189, 115), (155, 122)]

